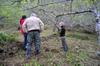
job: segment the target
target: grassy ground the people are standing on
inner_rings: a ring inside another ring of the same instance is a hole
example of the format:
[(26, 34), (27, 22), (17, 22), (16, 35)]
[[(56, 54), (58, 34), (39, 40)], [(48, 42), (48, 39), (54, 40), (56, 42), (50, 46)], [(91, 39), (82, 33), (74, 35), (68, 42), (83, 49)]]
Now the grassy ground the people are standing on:
[[(54, 34), (52, 30), (45, 30), (41, 36), (47, 37)], [(19, 34), (18, 40), (22, 41)], [(29, 63), (25, 63), (25, 51), (19, 50), (14, 57), (9, 57), (9, 65), (17, 66), (98, 66), (100, 59), (95, 52), (100, 48), (97, 45), (96, 35), (79, 32), (67, 32), (66, 41), (69, 51), (66, 56), (61, 48), (61, 42), (58, 37), (49, 37), (42, 41), (41, 54), (34, 56), (34, 47)], [(48, 51), (46, 51), (48, 50)]]

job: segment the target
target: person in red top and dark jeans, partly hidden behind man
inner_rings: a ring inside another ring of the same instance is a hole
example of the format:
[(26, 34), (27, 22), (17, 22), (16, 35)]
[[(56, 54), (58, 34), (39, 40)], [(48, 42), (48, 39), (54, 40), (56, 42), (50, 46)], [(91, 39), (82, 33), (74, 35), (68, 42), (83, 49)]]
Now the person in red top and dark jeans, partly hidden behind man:
[(23, 49), (26, 49), (26, 44), (27, 44), (27, 33), (23, 31), (22, 25), (26, 19), (26, 15), (23, 15), (22, 18), (20, 19), (20, 32), (24, 36), (24, 44), (23, 44)]

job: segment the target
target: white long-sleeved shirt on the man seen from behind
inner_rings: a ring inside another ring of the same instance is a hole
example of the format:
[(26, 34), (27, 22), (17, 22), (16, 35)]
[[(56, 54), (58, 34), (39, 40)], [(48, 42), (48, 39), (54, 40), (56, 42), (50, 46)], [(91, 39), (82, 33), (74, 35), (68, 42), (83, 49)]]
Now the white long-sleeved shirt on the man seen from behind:
[(22, 28), (24, 32), (30, 31), (30, 30), (43, 30), (44, 24), (43, 22), (35, 16), (30, 16), (25, 20), (25, 22), (22, 25)]

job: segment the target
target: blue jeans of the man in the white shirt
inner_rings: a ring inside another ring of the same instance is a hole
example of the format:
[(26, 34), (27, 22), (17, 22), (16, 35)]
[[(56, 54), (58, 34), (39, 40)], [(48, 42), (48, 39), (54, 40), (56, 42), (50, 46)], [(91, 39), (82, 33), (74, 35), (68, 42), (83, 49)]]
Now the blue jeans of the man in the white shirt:
[(26, 57), (29, 58), (31, 54), (32, 42), (34, 42), (35, 52), (40, 52), (40, 32), (39, 31), (31, 31), (28, 32), (27, 35), (27, 46), (26, 46)]

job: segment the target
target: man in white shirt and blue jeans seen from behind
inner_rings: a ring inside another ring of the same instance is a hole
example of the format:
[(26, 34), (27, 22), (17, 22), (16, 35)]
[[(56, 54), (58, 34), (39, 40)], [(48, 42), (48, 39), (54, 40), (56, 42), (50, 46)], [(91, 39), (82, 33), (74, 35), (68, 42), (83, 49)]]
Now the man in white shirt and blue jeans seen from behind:
[(22, 25), (24, 32), (27, 32), (27, 46), (26, 46), (26, 58), (30, 58), (32, 42), (35, 46), (35, 55), (40, 54), (40, 32), (44, 29), (44, 23), (37, 17), (35, 13), (32, 13), (29, 18), (27, 18)]

